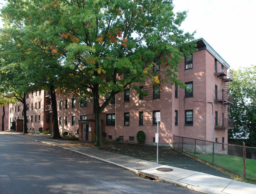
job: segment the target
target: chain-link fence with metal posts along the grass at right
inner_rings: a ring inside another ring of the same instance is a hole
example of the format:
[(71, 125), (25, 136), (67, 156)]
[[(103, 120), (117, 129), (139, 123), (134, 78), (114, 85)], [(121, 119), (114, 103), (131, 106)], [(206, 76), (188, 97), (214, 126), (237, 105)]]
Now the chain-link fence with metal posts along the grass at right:
[(174, 148), (243, 176), (256, 179), (256, 148), (174, 135)]

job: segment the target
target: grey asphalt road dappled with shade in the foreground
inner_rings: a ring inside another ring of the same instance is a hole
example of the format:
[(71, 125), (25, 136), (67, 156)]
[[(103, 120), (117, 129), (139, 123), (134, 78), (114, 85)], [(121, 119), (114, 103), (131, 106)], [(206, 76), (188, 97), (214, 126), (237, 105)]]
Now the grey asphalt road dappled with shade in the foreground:
[(0, 194), (186, 193), (112, 164), (20, 137), (0, 135)]

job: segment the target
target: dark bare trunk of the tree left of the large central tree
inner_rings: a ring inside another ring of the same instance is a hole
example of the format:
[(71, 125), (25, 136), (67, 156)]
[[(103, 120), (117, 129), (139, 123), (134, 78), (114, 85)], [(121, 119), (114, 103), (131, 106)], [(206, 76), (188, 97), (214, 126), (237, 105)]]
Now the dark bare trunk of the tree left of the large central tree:
[(52, 101), (52, 115), (53, 115), (53, 137), (61, 138), (59, 135), (59, 124), (58, 124), (58, 112), (57, 112), (57, 101), (54, 85), (50, 85), (51, 101)]

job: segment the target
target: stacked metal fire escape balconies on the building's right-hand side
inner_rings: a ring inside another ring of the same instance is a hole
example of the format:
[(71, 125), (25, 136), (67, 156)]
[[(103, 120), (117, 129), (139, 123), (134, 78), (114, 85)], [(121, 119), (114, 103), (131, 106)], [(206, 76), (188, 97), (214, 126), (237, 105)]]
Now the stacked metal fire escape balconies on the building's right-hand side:
[[(229, 71), (229, 72), (228, 72)], [(215, 76), (222, 79), (223, 89), (217, 90), (215, 88), (215, 103), (218, 105), (217, 119), (215, 118), (215, 129), (232, 129), (234, 128), (234, 121), (229, 118), (230, 105), (233, 103), (233, 96), (228, 92), (228, 84), (232, 80), (232, 71), (227, 69), (222, 63), (215, 63)]]

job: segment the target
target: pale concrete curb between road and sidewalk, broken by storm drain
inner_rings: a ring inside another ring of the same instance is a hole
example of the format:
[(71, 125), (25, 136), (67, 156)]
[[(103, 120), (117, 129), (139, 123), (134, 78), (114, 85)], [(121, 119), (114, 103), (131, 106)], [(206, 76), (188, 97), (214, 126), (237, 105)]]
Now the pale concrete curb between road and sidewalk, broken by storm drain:
[[(13, 136), (16, 136), (16, 137), (20, 137), (18, 135), (14, 135), (14, 134), (6, 134), (6, 135), (13, 135)], [(110, 164), (113, 164), (115, 166), (119, 166), (119, 167), (124, 168), (126, 170), (129, 170), (129, 171), (131, 171), (135, 174), (138, 174), (138, 172), (139, 172), (139, 170), (136, 170), (134, 168), (130, 168), (130, 167), (124, 166), (122, 164), (113, 163), (111, 161), (108, 161), (108, 160), (105, 160), (105, 159), (102, 159), (102, 158), (99, 158), (99, 157), (95, 157), (93, 155), (89, 155), (89, 154), (86, 154), (86, 153), (82, 153), (82, 152), (79, 152), (77, 150), (72, 150), (70, 148), (65, 148), (63, 146), (59, 146), (59, 145), (56, 145), (56, 144), (52, 144), (52, 143), (48, 143), (48, 142), (44, 142), (44, 141), (41, 141), (41, 140), (32, 139), (32, 138), (28, 138), (28, 137), (21, 137), (21, 138), (35, 140), (35, 141), (38, 141), (38, 142), (42, 142), (44, 144), (48, 144), (48, 145), (51, 145), (51, 146), (56, 146), (56, 147), (59, 147), (59, 148), (65, 149), (65, 150), (69, 150), (71, 152), (76, 152), (76, 153), (79, 153), (79, 154), (82, 154), (82, 155), (86, 155), (88, 157), (91, 157), (91, 158), (94, 158), (94, 159), (97, 159), (97, 160), (100, 160), (100, 161), (103, 161), (103, 162), (106, 162), (106, 163), (110, 163)], [(186, 184), (186, 183), (182, 183), (182, 182), (179, 182), (179, 181), (174, 181), (174, 180), (167, 179), (167, 178), (164, 178), (164, 177), (158, 177), (158, 180), (160, 180), (164, 183), (170, 183), (170, 184), (173, 184), (173, 185), (178, 185), (180, 187), (185, 187), (185, 188), (188, 188), (190, 190), (195, 190), (195, 191), (206, 193), (206, 194), (223, 194), (223, 192), (211, 190), (211, 189), (208, 189), (208, 188), (197, 187), (195, 185), (189, 185), (189, 184)]]

